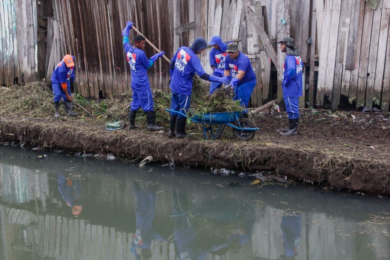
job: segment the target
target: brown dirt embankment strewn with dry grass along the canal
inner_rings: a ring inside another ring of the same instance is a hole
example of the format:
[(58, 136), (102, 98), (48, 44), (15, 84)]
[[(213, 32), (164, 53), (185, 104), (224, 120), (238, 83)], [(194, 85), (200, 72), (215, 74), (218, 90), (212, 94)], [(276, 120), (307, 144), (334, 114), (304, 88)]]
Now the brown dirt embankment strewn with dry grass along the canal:
[(196, 125), (189, 130), (196, 133), (194, 139), (176, 140), (143, 129), (107, 131), (85, 119), (2, 115), (0, 139), (133, 159), (153, 155), (157, 161), (191, 166), (270, 171), (327, 187), (389, 195), (389, 119), (382, 114), (309, 112), (302, 115), (299, 135), (285, 138), (275, 129), (286, 125), (286, 114), (267, 112), (254, 117), (260, 127), (254, 140), (237, 141), (227, 130), (221, 140), (206, 141)]

